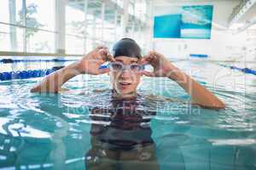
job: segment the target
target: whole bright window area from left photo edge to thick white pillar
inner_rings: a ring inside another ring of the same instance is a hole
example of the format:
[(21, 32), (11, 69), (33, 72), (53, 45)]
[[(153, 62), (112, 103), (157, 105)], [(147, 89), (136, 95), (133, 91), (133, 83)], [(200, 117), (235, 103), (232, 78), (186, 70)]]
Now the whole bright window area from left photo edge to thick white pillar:
[(0, 50), (54, 53), (54, 8), (54, 0), (1, 0)]

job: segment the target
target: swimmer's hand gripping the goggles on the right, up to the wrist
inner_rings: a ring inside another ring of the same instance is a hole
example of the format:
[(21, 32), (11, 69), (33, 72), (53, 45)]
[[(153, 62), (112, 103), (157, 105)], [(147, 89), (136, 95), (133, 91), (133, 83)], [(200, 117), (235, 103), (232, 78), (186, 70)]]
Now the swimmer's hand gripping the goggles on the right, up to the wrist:
[(143, 71), (143, 75), (147, 77), (172, 77), (172, 72), (177, 71), (177, 67), (166, 59), (166, 57), (157, 52), (149, 52), (141, 60), (141, 64), (149, 64), (154, 67), (154, 71)]

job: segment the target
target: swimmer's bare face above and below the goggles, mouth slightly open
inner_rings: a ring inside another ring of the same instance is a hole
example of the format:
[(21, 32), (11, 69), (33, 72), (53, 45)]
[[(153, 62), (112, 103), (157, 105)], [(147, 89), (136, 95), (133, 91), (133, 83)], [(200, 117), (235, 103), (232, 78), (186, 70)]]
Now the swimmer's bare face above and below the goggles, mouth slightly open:
[[(116, 57), (115, 60), (123, 65), (137, 64), (139, 61), (137, 58), (126, 56)], [(110, 71), (110, 80), (113, 89), (121, 95), (135, 93), (141, 80), (141, 76), (142, 74), (140, 71), (130, 71), (127, 69), (122, 71)]]

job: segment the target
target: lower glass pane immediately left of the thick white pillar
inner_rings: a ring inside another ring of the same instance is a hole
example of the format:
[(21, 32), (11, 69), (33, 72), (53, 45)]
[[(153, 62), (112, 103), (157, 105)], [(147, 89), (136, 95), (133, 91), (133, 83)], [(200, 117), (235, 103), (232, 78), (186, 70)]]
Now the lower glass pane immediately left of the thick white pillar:
[(55, 53), (55, 33), (26, 29), (26, 51), (29, 53)]

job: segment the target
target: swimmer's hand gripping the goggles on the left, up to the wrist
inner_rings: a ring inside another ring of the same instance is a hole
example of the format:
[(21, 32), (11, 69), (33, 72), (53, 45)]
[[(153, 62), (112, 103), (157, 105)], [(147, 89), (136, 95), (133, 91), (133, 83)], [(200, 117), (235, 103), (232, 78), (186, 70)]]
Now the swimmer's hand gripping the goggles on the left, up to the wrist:
[(114, 61), (113, 56), (109, 54), (108, 48), (98, 47), (86, 54), (78, 63), (78, 70), (82, 74), (100, 75), (109, 72), (108, 68), (100, 69), (100, 66), (107, 61)]

